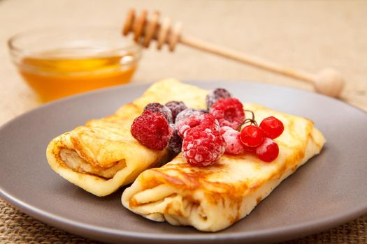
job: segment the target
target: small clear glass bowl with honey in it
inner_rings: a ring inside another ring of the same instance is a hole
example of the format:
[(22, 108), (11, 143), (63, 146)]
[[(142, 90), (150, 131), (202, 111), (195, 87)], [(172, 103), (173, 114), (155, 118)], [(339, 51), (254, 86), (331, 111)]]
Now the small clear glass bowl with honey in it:
[(10, 38), (10, 54), (44, 102), (130, 82), (141, 47), (118, 29), (43, 30)]

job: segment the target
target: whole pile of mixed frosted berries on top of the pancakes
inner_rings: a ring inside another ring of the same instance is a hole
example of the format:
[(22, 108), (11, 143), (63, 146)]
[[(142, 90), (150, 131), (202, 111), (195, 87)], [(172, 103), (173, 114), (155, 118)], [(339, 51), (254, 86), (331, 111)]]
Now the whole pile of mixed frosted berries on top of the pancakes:
[(273, 139), (282, 134), (282, 121), (270, 116), (258, 125), (251, 110), (245, 111), (252, 119), (245, 119), (242, 103), (226, 89), (208, 94), (206, 105), (207, 110), (187, 108), (181, 101), (150, 103), (131, 125), (131, 135), (147, 148), (182, 151), (189, 165), (198, 167), (215, 164), (224, 153), (252, 153), (265, 162), (278, 157)]

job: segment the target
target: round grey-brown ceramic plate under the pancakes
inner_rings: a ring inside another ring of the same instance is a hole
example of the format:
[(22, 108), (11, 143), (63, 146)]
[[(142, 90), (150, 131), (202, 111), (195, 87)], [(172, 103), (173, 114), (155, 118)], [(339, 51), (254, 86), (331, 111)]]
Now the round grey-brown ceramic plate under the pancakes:
[(115, 243), (270, 243), (313, 234), (367, 212), (367, 114), (316, 93), (250, 82), (191, 82), (226, 87), (257, 102), (315, 121), (322, 153), (287, 178), (247, 218), (208, 234), (152, 222), (127, 211), (123, 189), (95, 197), (55, 174), (45, 159), (50, 140), (88, 119), (112, 114), (148, 84), (118, 86), (50, 103), (0, 128), (0, 196), (24, 213), (71, 233)]

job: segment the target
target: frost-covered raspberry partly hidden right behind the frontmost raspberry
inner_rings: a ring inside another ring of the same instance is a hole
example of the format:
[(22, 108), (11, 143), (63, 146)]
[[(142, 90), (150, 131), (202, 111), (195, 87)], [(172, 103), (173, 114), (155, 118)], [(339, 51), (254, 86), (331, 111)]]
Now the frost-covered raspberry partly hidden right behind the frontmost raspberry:
[(177, 125), (178, 135), (184, 138), (188, 130), (193, 128), (201, 128), (204, 130), (206, 128), (213, 130), (220, 130), (220, 125), (218, 121), (214, 118), (212, 114), (192, 114), (191, 116), (182, 119)]

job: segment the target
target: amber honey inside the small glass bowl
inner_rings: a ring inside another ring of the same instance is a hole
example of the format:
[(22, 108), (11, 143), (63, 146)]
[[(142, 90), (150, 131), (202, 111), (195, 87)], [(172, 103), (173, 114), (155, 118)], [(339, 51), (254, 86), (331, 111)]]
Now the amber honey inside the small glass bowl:
[(133, 54), (90, 53), (54, 49), (25, 56), (18, 69), (43, 102), (131, 80), (137, 65)]

